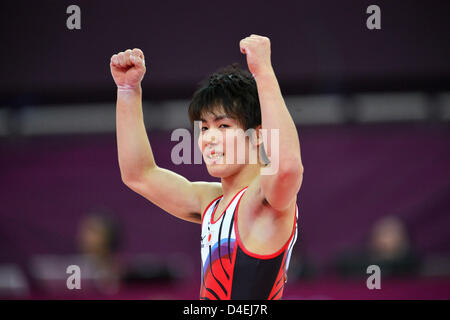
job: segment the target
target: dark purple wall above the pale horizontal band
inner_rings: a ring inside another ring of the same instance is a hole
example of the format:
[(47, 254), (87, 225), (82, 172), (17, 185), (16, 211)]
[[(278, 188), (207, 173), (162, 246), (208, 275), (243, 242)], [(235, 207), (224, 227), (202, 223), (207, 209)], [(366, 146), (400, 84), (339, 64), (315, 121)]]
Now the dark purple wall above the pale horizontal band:
[(149, 96), (187, 98), (218, 67), (245, 65), (238, 44), (251, 33), (272, 39), (274, 67), (290, 93), (449, 88), (448, 1), (379, 0), (377, 31), (366, 27), (373, 1), (365, 0), (79, 0), (78, 31), (66, 28), (71, 4), (0, 3), (0, 98), (33, 93), (108, 100), (114, 92), (109, 58), (134, 47), (147, 57)]

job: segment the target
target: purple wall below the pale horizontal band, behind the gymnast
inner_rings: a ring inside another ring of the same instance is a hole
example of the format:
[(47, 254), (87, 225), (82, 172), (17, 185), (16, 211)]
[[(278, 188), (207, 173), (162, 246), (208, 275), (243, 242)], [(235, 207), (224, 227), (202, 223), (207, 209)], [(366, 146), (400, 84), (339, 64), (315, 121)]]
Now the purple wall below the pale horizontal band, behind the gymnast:
[[(377, 218), (396, 214), (419, 253), (450, 254), (448, 125), (305, 127), (299, 134), (305, 175), (294, 251), (323, 264), (360, 243)], [(160, 166), (211, 181), (202, 165), (171, 164), (170, 132), (149, 135)], [(80, 218), (103, 204), (122, 222), (123, 253), (184, 252), (194, 271), (200, 267), (199, 226), (122, 184), (114, 135), (3, 139), (0, 154), (0, 262), (75, 252)]]

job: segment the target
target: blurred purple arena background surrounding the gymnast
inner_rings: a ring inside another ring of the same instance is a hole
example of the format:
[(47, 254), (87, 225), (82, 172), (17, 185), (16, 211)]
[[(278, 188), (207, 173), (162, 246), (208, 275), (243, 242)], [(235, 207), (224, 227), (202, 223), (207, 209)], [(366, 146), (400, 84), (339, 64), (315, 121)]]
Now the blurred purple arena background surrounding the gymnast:
[[(81, 9), (68, 30), (66, 8)], [(381, 8), (368, 30), (366, 8)], [(141, 48), (157, 163), (197, 83), (272, 41), (305, 166), (285, 299), (450, 299), (448, 1), (0, 4), (0, 298), (197, 299), (200, 228), (121, 182), (112, 54)], [(174, 195), (176, 196), (176, 195)], [(69, 265), (81, 290), (68, 290)], [(366, 269), (381, 268), (369, 290)]]

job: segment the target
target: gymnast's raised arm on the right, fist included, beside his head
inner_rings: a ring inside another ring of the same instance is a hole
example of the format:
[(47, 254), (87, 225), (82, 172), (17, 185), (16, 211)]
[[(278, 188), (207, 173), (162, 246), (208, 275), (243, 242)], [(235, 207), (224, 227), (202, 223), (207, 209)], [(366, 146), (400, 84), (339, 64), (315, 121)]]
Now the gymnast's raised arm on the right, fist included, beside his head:
[(279, 130), (278, 152), (272, 152), (277, 149), (271, 150), (270, 144), (265, 146), (271, 161), (277, 161), (278, 170), (272, 175), (261, 175), (260, 183), (267, 202), (283, 211), (295, 201), (302, 183), (303, 165), (297, 129), (272, 68), (269, 38), (251, 35), (241, 40), (240, 49), (246, 55), (248, 68), (256, 80), (261, 105), (261, 127), (269, 132)]

